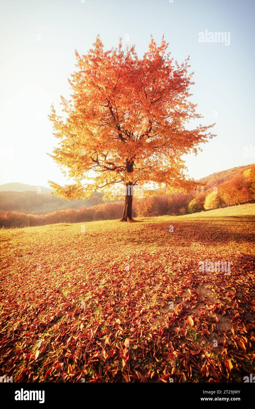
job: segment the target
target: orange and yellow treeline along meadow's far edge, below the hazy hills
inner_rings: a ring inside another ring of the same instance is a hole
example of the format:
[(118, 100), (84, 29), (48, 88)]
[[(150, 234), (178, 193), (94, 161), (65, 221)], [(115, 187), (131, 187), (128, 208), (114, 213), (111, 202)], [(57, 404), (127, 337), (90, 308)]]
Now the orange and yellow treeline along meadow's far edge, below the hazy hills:
[[(217, 209), (229, 205), (237, 205), (255, 200), (255, 166), (236, 173), (235, 176), (218, 186), (205, 189), (202, 187), (192, 194), (173, 194), (164, 196), (148, 196), (142, 199), (133, 198), (133, 217), (136, 216), (178, 216), (196, 213), (208, 209)], [(94, 202), (100, 196), (91, 198)], [(193, 197), (193, 198), (192, 198)], [(81, 209), (63, 209), (43, 215), (26, 214), (7, 211), (0, 213), (0, 227), (29, 227), (54, 223), (79, 223), (95, 220), (120, 219), (124, 202), (99, 203), (93, 207)]]

